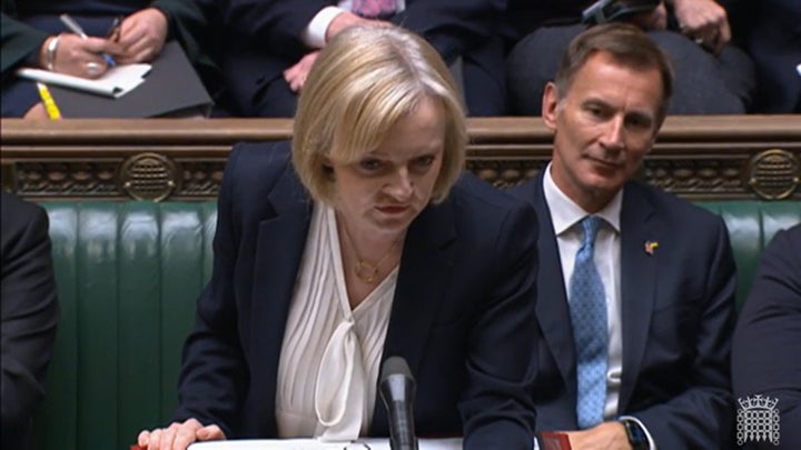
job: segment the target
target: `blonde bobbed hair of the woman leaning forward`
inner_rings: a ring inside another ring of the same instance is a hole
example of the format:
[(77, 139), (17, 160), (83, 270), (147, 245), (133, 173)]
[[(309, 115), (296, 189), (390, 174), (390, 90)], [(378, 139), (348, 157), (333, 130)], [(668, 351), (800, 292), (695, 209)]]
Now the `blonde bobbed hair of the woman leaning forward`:
[(438, 202), (462, 172), (467, 146), (458, 88), (439, 53), (397, 27), (354, 27), (332, 39), (304, 84), (293, 129), (293, 164), (312, 198), (333, 201), (326, 158), (357, 161), (425, 99), (446, 122), (443, 163), (432, 194)]

